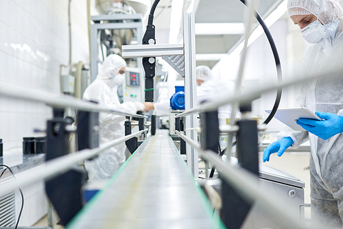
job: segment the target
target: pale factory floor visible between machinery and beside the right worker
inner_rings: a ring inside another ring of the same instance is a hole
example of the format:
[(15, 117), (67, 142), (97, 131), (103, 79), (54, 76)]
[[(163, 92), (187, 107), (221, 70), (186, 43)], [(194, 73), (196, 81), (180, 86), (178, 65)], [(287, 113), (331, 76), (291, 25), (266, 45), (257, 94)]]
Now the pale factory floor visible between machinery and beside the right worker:
[[(259, 162), (262, 162), (262, 154), (259, 154)], [(305, 204), (310, 204), (309, 199), (309, 152), (285, 152), (282, 157), (278, 157), (276, 154), (272, 154), (270, 161), (264, 163), (270, 167), (285, 171), (296, 178), (305, 182)], [(202, 171), (200, 177), (204, 177), (204, 165), (200, 163), (199, 168)], [(305, 218), (311, 217), (310, 208), (305, 208)], [(55, 217), (55, 229), (62, 229), (63, 226), (57, 224), (58, 216)], [(43, 217), (34, 226), (47, 226), (47, 217)]]

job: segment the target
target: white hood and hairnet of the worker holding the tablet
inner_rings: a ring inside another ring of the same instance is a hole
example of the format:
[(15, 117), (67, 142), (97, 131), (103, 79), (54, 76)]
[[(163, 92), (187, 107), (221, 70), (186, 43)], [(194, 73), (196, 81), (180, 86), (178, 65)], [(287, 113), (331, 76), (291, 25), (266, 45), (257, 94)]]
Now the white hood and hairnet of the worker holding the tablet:
[(343, 10), (336, 0), (289, 0), (288, 14), (308, 15), (313, 14), (324, 25), (329, 34), (322, 40), (324, 47), (332, 47), (335, 40), (342, 36)]

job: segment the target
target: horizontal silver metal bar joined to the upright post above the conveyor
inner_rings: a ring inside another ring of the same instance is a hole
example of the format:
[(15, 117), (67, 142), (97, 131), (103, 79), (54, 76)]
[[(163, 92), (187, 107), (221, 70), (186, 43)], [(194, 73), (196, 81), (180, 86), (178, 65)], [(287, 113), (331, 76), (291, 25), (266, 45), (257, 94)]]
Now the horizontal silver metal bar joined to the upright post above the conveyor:
[(183, 55), (182, 44), (123, 45), (121, 49), (123, 58)]

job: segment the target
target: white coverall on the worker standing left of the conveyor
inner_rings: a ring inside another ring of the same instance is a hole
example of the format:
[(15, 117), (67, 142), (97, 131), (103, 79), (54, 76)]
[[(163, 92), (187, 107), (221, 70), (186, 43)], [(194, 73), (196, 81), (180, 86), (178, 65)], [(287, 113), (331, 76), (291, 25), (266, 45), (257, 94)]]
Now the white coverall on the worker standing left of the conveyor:
[[(117, 88), (123, 80), (123, 75), (118, 73), (123, 67), (126, 67), (126, 62), (123, 58), (114, 54), (108, 56), (104, 60), (96, 79), (84, 91), (83, 99), (97, 101), (102, 106), (107, 106), (108, 108), (122, 112), (136, 113), (137, 108), (138, 110), (143, 110), (144, 105), (141, 103), (134, 104), (132, 102), (126, 102), (120, 104), (119, 102)], [(100, 112), (100, 145), (125, 136), (124, 120), (125, 116)], [(125, 143), (121, 143), (104, 150), (94, 160), (86, 160), (84, 165), (88, 171), (89, 180), (110, 179), (119, 167), (123, 165), (123, 162), (125, 162), (125, 150)]]

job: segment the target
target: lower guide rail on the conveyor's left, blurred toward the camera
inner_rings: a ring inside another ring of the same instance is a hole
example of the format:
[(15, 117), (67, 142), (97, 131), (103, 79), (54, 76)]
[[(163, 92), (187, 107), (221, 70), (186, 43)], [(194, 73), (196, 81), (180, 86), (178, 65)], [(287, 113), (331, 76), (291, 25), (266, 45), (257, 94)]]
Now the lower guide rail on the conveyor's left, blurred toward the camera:
[(95, 149), (83, 149), (73, 154), (60, 156), (54, 160), (45, 162), (43, 165), (39, 165), (38, 167), (30, 169), (29, 171), (25, 172), (25, 175), (21, 175), (19, 173), (16, 175), (16, 182), (10, 182), (8, 185), (1, 187), (0, 195), (7, 193), (8, 191), (12, 191), (18, 187), (23, 188), (29, 184), (34, 184), (40, 180), (49, 180), (54, 178), (59, 174), (69, 171), (69, 169), (71, 169), (76, 163), (82, 160), (93, 158), (105, 149), (113, 147), (114, 145), (119, 145), (120, 143), (123, 143), (134, 136), (142, 134), (143, 132), (147, 132), (147, 129), (115, 139)]

